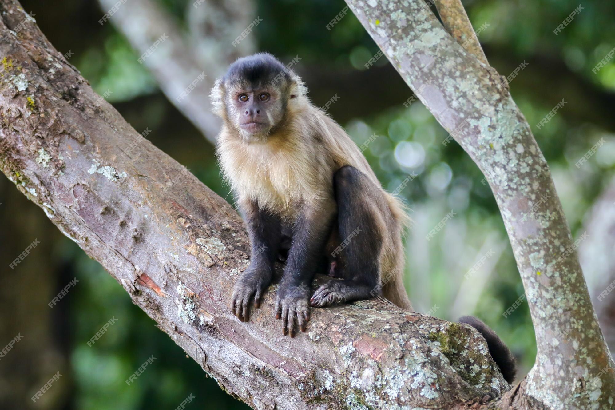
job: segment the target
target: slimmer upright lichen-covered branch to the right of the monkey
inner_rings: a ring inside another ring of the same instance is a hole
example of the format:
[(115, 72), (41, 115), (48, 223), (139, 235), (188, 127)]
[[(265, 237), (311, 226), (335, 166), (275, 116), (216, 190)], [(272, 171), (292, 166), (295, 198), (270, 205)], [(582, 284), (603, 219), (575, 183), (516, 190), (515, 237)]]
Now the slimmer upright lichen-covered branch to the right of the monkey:
[(613, 358), (549, 167), (506, 79), (446, 33), (423, 0), (346, 2), (420, 100), (477, 163), (498, 202), (538, 347), (533, 369), (499, 405), (613, 408)]

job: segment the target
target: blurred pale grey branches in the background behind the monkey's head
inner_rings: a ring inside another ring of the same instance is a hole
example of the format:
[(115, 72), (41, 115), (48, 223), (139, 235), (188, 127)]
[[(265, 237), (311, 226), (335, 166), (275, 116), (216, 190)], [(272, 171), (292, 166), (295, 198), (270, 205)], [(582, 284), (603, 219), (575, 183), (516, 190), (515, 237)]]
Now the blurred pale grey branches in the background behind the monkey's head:
[[(117, 4), (117, 0), (98, 1), (103, 12)], [(193, 33), (192, 41), (186, 39), (186, 34), (173, 22), (172, 16), (151, 0), (122, 2), (108, 21), (126, 36), (137, 54), (143, 56), (143, 64), (156, 78), (169, 101), (215, 144), (221, 123), (212, 113), (209, 92), (213, 81), (224, 73), (229, 63), (242, 53), (252, 52), (250, 36), (238, 42), (237, 47), (232, 46), (232, 41), (253, 20), (253, 7), (251, 2), (238, 6), (230, 19), (233, 23), (221, 27), (221, 23), (229, 21), (229, 7), (233, 4), (205, 0), (198, 2), (195, 8), (193, 2), (190, 3), (190, 27), (199, 33)], [(205, 20), (204, 14), (207, 21), (202, 21)], [(194, 39), (201, 33), (207, 36), (203, 36), (201, 41)], [(151, 49), (161, 36), (165, 36), (164, 41), (156, 49)], [(148, 49), (151, 52), (144, 55)], [(206, 77), (199, 79), (202, 74)], [(192, 81), (196, 81), (194, 89), (182, 94)]]

